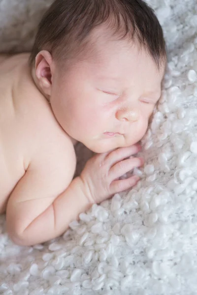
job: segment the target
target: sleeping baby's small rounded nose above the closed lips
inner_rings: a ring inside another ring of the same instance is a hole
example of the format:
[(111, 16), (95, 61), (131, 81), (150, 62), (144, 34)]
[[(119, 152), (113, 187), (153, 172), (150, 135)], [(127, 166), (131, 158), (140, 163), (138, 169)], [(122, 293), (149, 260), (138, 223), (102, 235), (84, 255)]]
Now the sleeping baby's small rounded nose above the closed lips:
[(116, 118), (120, 121), (135, 122), (139, 118), (138, 108), (121, 108), (116, 112)]

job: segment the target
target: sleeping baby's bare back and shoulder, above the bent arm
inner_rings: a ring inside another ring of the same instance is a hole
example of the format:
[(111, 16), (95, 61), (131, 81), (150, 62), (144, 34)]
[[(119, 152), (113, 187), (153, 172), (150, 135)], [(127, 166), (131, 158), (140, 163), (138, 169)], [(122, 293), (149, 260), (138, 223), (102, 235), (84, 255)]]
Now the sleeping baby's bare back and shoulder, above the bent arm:
[[(49, 174), (59, 169), (64, 176), (64, 154), (70, 152), (71, 178), (74, 173), (73, 145), (35, 87), (28, 58), (29, 54), (0, 56), (0, 213), (30, 164), (46, 166)], [(62, 183), (57, 190), (63, 189)]]

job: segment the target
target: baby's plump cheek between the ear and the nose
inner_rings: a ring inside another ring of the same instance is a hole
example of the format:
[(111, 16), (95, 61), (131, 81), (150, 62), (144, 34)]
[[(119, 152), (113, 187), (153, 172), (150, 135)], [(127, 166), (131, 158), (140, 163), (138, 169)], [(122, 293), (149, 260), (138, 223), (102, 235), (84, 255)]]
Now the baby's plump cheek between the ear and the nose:
[(101, 97), (89, 85), (69, 79), (59, 83), (53, 91), (56, 118), (65, 130), (75, 133), (86, 131), (94, 135), (106, 127), (111, 116), (101, 104)]

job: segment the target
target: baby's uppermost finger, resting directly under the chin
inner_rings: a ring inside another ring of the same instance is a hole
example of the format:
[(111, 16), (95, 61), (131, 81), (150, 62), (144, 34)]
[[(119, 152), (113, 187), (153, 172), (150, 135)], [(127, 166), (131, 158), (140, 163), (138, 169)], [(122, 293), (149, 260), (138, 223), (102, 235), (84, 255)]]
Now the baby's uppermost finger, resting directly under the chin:
[(106, 155), (105, 161), (107, 161), (111, 167), (112, 165), (129, 158), (131, 155), (136, 154), (140, 150), (140, 144), (136, 144), (127, 148), (117, 148)]

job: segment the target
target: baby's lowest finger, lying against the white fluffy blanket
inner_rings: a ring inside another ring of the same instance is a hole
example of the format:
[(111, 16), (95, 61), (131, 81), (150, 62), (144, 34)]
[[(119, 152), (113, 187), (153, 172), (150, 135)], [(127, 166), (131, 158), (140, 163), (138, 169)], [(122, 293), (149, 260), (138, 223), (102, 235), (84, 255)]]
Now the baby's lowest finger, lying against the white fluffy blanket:
[(127, 190), (134, 186), (138, 181), (140, 177), (138, 176), (131, 176), (127, 179), (121, 179), (121, 180), (114, 180), (110, 184), (110, 192), (112, 194), (120, 193), (124, 190)]

